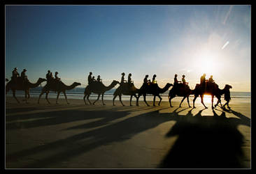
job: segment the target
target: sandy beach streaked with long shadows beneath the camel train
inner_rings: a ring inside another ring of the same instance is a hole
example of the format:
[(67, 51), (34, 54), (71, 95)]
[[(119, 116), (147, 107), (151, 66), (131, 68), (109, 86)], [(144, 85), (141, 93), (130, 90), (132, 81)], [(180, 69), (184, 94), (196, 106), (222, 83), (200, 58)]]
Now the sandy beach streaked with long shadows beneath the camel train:
[(6, 97), (6, 168), (251, 167), (248, 103), (223, 111), (199, 102), (192, 109), (18, 99)]

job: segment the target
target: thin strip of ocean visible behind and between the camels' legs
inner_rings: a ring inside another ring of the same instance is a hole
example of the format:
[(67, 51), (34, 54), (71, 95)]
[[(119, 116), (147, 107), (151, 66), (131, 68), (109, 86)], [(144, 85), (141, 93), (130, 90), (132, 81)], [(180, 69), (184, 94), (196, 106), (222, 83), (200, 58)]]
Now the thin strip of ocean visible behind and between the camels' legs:
[[(30, 97), (38, 97), (39, 94), (41, 93), (41, 89), (42, 87), (39, 86), (37, 88), (31, 88), (29, 90), (29, 93), (30, 93)], [(83, 100), (83, 97), (84, 97), (84, 91), (85, 91), (85, 88), (74, 88), (72, 90), (66, 90), (66, 95), (67, 95), (67, 98), (68, 99), (80, 99), (80, 100)], [(104, 94), (104, 100), (113, 100), (113, 93), (115, 92), (115, 88), (111, 89), (111, 90), (108, 90), (106, 91), (106, 93)], [(169, 90), (167, 90), (165, 93), (162, 93), (160, 96), (162, 97), (162, 101), (169, 101), (168, 100), (168, 95), (169, 95)], [(230, 95), (231, 95), (231, 98), (232, 100), (230, 101), (230, 104), (232, 104), (232, 102), (246, 102), (246, 103), (250, 103), (251, 102), (251, 93), (250, 92), (233, 92), (233, 91), (230, 91)], [(6, 96), (13, 96), (13, 93), (12, 91), (10, 90)], [(17, 90), (16, 91), (16, 96), (17, 97), (24, 97), (24, 91), (22, 90)], [(42, 95), (41, 97), (41, 100), (45, 99), (45, 94)], [(91, 101), (94, 101), (97, 99), (97, 94), (94, 94), (92, 93), (90, 95), (90, 100)], [(48, 94), (48, 98), (56, 98), (57, 97), (57, 93), (55, 92), (52, 92), (50, 91), (50, 93)], [(59, 98), (64, 98), (64, 94), (61, 93), (59, 95)], [(194, 98), (194, 95), (190, 95), (190, 100), (192, 101)], [(180, 102), (180, 100), (182, 99), (182, 97), (175, 97), (173, 98), (171, 101), (173, 102)], [(99, 98), (99, 100), (101, 100), (101, 97)], [(117, 97), (115, 99), (116, 101), (119, 100), (119, 98)], [(127, 100), (130, 100), (130, 96), (129, 95), (122, 95), (122, 100), (124, 101), (127, 101)], [(147, 95), (146, 97), (146, 100), (147, 101), (152, 101), (153, 100), (153, 96), (152, 95)], [(133, 97), (132, 101), (136, 101), (136, 98)], [(139, 98), (139, 101), (143, 101), (143, 96), (141, 96)], [(159, 101), (159, 98), (156, 97), (156, 101)], [(184, 102), (186, 102), (184, 100)], [(200, 98), (197, 99), (197, 102), (200, 102)], [(208, 96), (208, 95), (205, 95), (204, 96), (204, 102), (208, 103), (208, 102), (211, 102), (211, 96)], [(217, 99), (215, 98), (214, 99), (214, 102), (217, 102)], [(224, 101), (224, 95), (222, 95), (222, 102), (225, 102)]]

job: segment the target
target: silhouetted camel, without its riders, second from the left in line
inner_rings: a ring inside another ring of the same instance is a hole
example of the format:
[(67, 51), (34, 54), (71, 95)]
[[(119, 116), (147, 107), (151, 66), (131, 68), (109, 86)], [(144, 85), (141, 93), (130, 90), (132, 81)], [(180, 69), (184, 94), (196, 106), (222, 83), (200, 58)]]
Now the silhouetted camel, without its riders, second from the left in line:
[(49, 100), (48, 100), (48, 93), (50, 92), (50, 90), (57, 92), (57, 99), (56, 99), (56, 104), (58, 104), (58, 99), (59, 99), (59, 93), (64, 93), (65, 99), (66, 99), (66, 103), (69, 104), (67, 98), (66, 98), (66, 90), (71, 90), (73, 88), (76, 88), (76, 86), (80, 86), (81, 84), (78, 82), (73, 82), (73, 84), (71, 84), (70, 86), (66, 86), (62, 81), (57, 81), (57, 80), (52, 80), (52, 81), (47, 81), (47, 84), (45, 86), (43, 86), (43, 89), (41, 91), (41, 94), (39, 95), (38, 98), (38, 104), (39, 104), (39, 100), (41, 98), (41, 96), (45, 93), (45, 99), (47, 100), (47, 102), (50, 104)]

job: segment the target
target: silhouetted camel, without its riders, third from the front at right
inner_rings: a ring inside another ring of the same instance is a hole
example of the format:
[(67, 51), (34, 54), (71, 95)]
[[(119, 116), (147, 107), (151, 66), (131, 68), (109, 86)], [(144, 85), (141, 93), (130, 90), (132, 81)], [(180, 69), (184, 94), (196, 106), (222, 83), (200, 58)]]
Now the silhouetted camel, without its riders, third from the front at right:
[[(154, 95), (153, 106), (155, 106), (155, 97), (156, 96), (159, 97), (159, 99), (160, 99), (159, 103), (158, 103), (158, 106), (160, 106), (162, 97), (160, 97), (159, 94), (166, 92), (166, 90), (168, 90), (171, 86), (173, 86), (173, 84), (169, 84), (169, 83), (167, 83), (164, 86), (164, 88), (159, 88), (158, 84), (152, 84), (152, 83), (143, 84), (143, 86), (141, 86), (141, 88), (138, 90), (138, 98), (141, 97), (141, 95), (143, 95), (145, 104), (147, 104), (147, 106), (150, 106), (148, 104), (148, 102), (145, 100), (145, 96), (146, 96), (146, 94), (152, 94), (152, 95)], [(137, 98), (137, 106), (138, 106), (138, 98)]]

